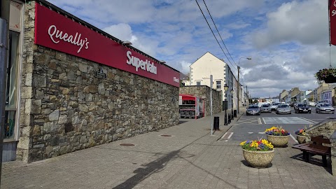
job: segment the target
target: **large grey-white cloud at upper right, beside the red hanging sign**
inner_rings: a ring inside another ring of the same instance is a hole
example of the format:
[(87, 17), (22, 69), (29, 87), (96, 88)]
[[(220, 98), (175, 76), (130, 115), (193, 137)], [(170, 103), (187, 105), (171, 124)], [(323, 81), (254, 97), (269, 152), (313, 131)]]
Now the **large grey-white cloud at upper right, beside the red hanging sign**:
[(267, 15), (267, 28), (252, 35), (258, 48), (297, 41), (328, 43), (328, 6), (321, 0), (283, 3)]

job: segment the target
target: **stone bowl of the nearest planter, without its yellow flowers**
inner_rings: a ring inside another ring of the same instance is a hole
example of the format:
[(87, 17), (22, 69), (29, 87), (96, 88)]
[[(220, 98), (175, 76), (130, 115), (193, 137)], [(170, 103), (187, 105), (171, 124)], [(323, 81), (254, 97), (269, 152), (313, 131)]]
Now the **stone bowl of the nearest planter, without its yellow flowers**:
[(265, 168), (268, 167), (274, 157), (274, 150), (272, 151), (248, 151), (243, 149), (245, 160), (251, 167)]

